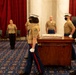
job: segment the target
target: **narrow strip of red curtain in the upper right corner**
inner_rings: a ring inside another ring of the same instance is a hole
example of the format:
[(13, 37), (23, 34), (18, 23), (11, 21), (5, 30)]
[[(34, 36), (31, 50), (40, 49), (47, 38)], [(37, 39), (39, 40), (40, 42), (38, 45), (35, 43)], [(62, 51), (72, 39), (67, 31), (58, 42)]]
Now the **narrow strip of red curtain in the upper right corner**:
[(76, 0), (70, 0), (69, 12), (72, 16), (76, 16)]

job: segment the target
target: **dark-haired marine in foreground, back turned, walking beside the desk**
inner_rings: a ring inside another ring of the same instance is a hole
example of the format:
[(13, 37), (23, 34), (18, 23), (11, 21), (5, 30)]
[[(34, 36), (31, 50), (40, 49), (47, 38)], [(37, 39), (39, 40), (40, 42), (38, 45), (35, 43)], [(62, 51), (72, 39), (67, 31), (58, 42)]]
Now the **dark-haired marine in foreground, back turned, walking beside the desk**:
[(40, 60), (40, 57), (38, 55), (38, 44), (37, 44), (37, 38), (39, 35), (39, 31), (40, 31), (39, 23), (38, 23), (39, 20), (36, 17), (30, 16), (29, 22), (30, 22), (31, 28), (29, 29), (28, 39), (27, 39), (28, 44), (29, 44), (27, 65), (25, 67), (24, 73), (19, 74), (19, 75), (29, 75), (30, 74), (33, 60), (38, 69), (38, 72), (39, 72), (39, 74), (36, 74), (36, 75), (43, 75), (44, 68), (43, 68), (42, 62)]

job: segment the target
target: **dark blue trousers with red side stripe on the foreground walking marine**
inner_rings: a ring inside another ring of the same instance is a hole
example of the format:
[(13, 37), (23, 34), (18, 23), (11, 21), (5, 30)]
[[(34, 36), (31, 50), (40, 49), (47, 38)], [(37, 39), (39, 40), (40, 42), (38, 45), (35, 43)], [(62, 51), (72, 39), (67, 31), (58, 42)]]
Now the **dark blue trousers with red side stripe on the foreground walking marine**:
[(31, 68), (32, 68), (32, 63), (34, 60), (38, 72), (43, 73), (44, 68), (43, 68), (42, 62), (40, 60), (40, 57), (38, 55), (38, 45), (37, 44), (35, 45), (35, 52), (30, 52), (30, 48), (31, 48), (31, 45), (29, 45), (28, 59), (27, 59), (27, 63), (26, 63), (26, 67), (25, 67), (24, 72), (30, 74)]

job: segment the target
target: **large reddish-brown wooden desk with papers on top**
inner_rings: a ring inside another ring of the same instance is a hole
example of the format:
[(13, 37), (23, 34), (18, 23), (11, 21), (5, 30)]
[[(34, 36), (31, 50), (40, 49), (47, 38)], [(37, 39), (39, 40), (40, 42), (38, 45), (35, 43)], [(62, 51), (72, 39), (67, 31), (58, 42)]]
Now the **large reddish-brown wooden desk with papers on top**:
[(44, 65), (71, 66), (73, 38), (53, 39), (41, 37), (38, 39), (38, 52)]

